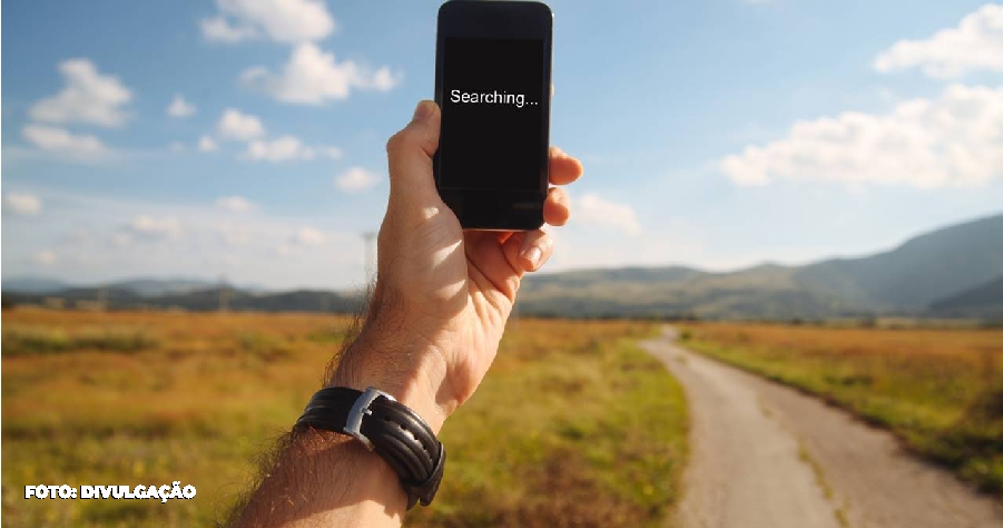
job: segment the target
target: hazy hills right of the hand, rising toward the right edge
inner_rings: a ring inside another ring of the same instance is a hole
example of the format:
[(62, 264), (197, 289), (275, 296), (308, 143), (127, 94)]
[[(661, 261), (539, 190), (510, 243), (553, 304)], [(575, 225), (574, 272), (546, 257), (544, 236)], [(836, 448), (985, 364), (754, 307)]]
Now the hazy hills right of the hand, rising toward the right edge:
[(979, 290), (1001, 273), (1003, 215), (995, 215), (920, 235), (888, 252), (805, 266), (766, 264), (728, 273), (631, 267), (532, 276), (520, 292), (520, 311), (702, 319), (922, 315), (936, 300)]

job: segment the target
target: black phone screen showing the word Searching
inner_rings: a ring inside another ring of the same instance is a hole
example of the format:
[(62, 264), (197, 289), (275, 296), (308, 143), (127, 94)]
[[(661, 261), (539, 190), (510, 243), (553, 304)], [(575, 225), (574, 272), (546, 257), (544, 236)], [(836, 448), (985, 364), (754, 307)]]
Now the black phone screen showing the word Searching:
[(445, 38), (440, 186), (539, 190), (547, 144), (542, 39)]

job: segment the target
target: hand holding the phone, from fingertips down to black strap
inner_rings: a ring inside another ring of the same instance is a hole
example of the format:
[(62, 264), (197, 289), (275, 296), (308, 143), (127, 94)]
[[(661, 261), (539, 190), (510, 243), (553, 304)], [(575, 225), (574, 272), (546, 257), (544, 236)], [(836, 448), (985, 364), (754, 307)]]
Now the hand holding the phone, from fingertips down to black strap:
[[(541, 229), (464, 233), (435, 188), (440, 120), (439, 107), (422, 101), (387, 141), (390, 201), (376, 287), (358, 339), (328, 380), (384, 390), (435, 431), (491, 366), (522, 276), (553, 252)], [(551, 147), (551, 184), (570, 184), (581, 173), (578, 159)], [(567, 195), (551, 187), (544, 221), (559, 226), (569, 216)]]

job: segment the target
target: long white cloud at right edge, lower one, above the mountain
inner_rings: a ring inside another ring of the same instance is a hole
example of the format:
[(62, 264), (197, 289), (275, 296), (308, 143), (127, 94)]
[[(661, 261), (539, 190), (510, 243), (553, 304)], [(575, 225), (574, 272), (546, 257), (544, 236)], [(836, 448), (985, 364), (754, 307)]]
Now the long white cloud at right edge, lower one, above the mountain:
[(844, 113), (796, 123), (784, 139), (725, 157), (739, 185), (778, 178), (920, 188), (1003, 177), (1003, 87), (954, 85), (887, 115)]

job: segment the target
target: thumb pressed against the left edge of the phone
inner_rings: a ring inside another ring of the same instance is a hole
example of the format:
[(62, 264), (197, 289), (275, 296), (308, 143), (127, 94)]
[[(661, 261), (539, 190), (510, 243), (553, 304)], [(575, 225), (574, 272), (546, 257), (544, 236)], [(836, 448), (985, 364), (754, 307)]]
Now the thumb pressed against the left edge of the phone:
[(430, 204), (440, 201), (432, 174), (432, 156), (439, 148), (439, 105), (424, 100), (404, 129), (386, 141), (390, 199)]

